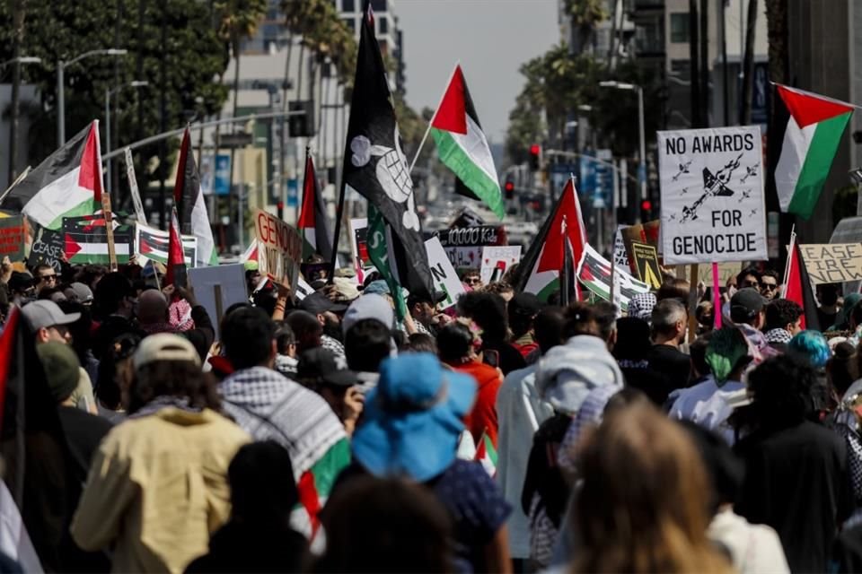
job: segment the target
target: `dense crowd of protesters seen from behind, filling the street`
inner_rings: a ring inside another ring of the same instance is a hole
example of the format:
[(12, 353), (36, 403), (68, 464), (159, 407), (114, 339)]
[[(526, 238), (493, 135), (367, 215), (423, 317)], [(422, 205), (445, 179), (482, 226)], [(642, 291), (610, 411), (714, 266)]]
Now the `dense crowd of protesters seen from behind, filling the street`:
[(625, 312), (469, 274), (399, 318), (307, 263), (210, 317), (3, 262), (0, 571), (862, 570), (858, 295), (818, 287), (829, 339), (755, 267)]

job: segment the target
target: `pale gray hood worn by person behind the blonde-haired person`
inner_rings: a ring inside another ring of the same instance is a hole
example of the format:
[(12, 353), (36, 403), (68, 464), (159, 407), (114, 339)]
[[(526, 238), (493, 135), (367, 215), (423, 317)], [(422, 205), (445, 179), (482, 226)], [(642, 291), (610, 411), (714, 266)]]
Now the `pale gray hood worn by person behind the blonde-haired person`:
[(593, 335), (576, 335), (550, 349), (539, 361), (536, 388), (541, 398), (560, 413), (575, 415), (596, 387), (622, 388), (620, 366), (604, 341)]

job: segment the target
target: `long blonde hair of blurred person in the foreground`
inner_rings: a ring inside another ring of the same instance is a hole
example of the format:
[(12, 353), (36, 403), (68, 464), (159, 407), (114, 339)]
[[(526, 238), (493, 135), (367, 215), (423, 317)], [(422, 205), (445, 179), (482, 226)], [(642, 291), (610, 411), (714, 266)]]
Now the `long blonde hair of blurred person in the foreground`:
[(580, 459), (575, 572), (729, 572), (709, 543), (709, 482), (682, 429), (650, 404), (611, 413)]

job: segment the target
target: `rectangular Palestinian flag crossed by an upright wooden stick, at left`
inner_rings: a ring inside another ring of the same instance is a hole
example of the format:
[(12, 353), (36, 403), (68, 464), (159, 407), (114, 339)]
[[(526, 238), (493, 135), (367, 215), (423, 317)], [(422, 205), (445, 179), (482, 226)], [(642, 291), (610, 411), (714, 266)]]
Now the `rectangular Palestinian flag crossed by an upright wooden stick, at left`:
[[(134, 237), (128, 225), (113, 223), (114, 253), (117, 263), (128, 263), (133, 253)], [(110, 265), (108, 230), (101, 214), (63, 218), (63, 242), (66, 259), (72, 265)]]

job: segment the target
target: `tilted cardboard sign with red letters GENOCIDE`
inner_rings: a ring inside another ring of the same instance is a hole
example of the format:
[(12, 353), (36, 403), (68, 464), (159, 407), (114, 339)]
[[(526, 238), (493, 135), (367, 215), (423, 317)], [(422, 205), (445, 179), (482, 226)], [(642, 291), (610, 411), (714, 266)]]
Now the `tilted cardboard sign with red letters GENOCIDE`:
[(258, 239), (261, 275), (293, 289), (303, 258), (303, 238), (297, 230), (272, 213), (254, 210), (254, 236)]

